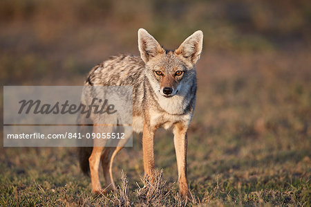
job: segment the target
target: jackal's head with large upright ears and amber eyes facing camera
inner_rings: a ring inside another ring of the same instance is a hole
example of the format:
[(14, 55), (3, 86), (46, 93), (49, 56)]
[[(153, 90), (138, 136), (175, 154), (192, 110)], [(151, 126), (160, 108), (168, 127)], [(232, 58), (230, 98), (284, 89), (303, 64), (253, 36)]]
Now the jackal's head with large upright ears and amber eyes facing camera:
[[(146, 65), (146, 74), (151, 87), (164, 97), (187, 93), (190, 82), (195, 82), (194, 66), (202, 51), (203, 33), (196, 31), (175, 51), (168, 51), (147, 30), (138, 30), (140, 57)], [(187, 91), (186, 91), (187, 90)]]

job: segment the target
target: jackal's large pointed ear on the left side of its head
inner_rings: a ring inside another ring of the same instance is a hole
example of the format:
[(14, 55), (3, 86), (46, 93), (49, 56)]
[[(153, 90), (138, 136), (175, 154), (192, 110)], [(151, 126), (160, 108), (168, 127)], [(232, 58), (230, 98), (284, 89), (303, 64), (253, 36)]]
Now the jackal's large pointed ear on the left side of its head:
[(152, 37), (147, 30), (140, 28), (138, 30), (138, 48), (140, 57), (147, 63), (152, 57), (165, 53), (160, 44)]

